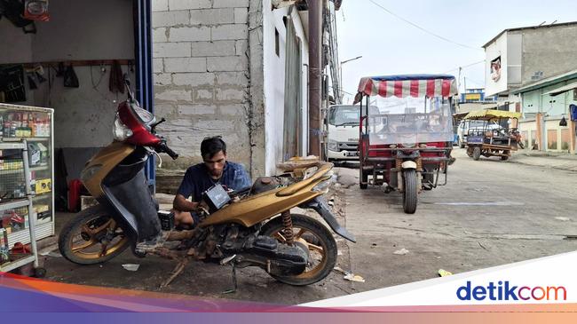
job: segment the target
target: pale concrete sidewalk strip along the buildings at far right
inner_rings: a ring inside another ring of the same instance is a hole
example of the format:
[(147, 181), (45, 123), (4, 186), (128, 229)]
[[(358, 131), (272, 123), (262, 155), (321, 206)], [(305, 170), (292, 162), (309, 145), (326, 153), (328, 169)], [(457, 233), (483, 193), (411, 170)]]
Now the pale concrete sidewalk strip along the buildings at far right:
[(509, 161), (537, 167), (577, 172), (577, 154), (550, 154), (523, 150), (513, 154)]

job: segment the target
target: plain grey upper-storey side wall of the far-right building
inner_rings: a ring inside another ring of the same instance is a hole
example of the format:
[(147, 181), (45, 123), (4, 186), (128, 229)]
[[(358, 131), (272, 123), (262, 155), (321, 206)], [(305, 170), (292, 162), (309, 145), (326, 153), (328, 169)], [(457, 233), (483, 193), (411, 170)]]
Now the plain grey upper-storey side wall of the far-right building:
[(577, 25), (525, 29), (523, 33), (522, 83), (534, 83), (535, 72), (542, 78), (577, 68)]

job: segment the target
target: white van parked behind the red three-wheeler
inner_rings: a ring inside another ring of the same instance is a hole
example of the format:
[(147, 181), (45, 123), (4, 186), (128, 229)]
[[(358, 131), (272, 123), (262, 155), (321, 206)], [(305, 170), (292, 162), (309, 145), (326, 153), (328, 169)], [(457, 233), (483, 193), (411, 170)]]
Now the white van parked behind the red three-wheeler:
[[(375, 106), (371, 113), (378, 114)], [(328, 109), (328, 161), (359, 161), (359, 107), (335, 105)]]

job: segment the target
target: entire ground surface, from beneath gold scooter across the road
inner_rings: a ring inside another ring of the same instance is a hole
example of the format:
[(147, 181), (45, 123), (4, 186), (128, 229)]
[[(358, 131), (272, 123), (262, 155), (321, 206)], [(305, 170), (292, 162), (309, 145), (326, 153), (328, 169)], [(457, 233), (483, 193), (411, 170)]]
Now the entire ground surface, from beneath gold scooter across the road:
[[(273, 281), (258, 269), (239, 272), (239, 291), (231, 287), (230, 268), (192, 264), (162, 291), (299, 304), (333, 296), (437, 277), (440, 268), (462, 273), (577, 249), (577, 172), (514, 162), (474, 162), (454, 153), (447, 186), (419, 197), (415, 215), (402, 212), (400, 195), (358, 185), (337, 188), (336, 208), (358, 243), (339, 241), (339, 266), (366, 278), (344, 281), (340, 273), (310, 287), (295, 288)], [(343, 182), (356, 181), (358, 170), (337, 168)], [(562, 217), (562, 218), (556, 218)], [(569, 217), (566, 219), (563, 217)], [(394, 255), (408, 249), (406, 255)], [(140, 264), (138, 272), (122, 264)], [(47, 257), (49, 280), (107, 287), (158, 290), (174, 264), (157, 257), (138, 259), (125, 252), (105, 265), (77, 266), (62, 257)]]

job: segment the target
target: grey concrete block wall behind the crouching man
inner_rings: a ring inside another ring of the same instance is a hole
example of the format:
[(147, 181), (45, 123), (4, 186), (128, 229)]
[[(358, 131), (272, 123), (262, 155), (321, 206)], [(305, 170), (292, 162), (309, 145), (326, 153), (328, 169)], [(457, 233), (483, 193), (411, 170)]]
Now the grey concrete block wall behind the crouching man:
[(180, 154), (163, 169), (201, 162), (202, 138), (221, 135), (250, 170), (249, 0), (153, 0), (155, 114)]

